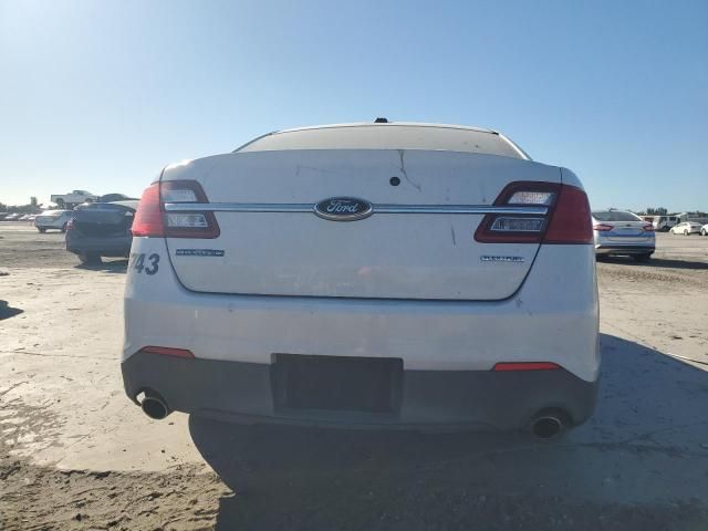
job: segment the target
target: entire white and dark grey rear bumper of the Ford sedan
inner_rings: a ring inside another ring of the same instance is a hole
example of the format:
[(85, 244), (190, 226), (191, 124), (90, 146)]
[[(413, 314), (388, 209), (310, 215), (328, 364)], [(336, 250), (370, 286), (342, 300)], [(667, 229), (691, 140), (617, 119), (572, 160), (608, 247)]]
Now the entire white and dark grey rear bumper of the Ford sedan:
[[(543, 246), (513, 298), (483, 302), (195, 293), (179, 284), (164, 240), (134, 238), (132, 253), (162, 258), (155, 274), (128, 271), (122, 369), (133, 399), (153, 389), (186, 413), (392, 427), (516, 429), (545, 408), (580, 424), (593, 409), (600, 353), (592, 246)], [(196, 358), (142, 352), (149, 345), (187, 348)], [(283, 354), (398, 360), (399, 403), (388, 417), (283, 412), (271, 383), (274, 356)], [(492, 372), (498, 362), (563, 369)]]

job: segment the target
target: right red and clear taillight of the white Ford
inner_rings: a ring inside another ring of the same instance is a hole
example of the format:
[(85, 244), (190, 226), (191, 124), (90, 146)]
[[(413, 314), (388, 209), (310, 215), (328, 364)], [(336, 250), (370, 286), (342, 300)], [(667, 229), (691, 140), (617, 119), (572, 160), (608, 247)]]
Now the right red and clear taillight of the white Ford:
[[(494, 207), (509, 209), (485, 216), (475, 232), (475, 240), (481, 243), (593, 241), (587, 196), (575, 186), (538, 181), (511, 183), (499, 194)], [(514, 209), (519, 214), (514, 214)]]

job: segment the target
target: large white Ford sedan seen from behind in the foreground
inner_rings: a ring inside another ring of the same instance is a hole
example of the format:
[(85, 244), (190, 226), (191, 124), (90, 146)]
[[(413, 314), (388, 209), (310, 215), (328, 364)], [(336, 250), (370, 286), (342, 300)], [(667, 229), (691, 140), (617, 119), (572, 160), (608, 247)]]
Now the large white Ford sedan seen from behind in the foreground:
[(122, 371), (152, 418), (553, 437), (594, 409), (587, 197), (497, 132), (269, 134), (167, 166), (133, 235)]

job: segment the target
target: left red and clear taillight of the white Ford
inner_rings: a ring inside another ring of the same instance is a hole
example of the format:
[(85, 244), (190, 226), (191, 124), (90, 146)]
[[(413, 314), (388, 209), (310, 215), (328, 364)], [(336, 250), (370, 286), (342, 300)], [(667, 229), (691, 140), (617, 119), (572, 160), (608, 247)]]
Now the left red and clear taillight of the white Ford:
[(218, 238), (214, 212), (201, 210), (209, 200), (196, 180), (153, 183), (143, 192), (133, 220), (133, 236)]

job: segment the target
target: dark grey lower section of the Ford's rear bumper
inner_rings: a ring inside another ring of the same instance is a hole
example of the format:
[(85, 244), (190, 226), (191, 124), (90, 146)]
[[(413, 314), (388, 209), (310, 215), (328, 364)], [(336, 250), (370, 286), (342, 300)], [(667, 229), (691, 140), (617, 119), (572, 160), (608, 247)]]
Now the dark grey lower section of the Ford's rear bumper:
[(133, 400), (150, 389), (174, 410), (246, 424), (511, 430), (528, 426), (542, 410), (561, 409), (579, 425), (592, 414), (597, 392), (596, 381), (564, 369), (403, 371), (399, 400), (387, 414), (295, 410), (277, 405), (273, 367), (143, 352), (122, 364), (125, 392)]

